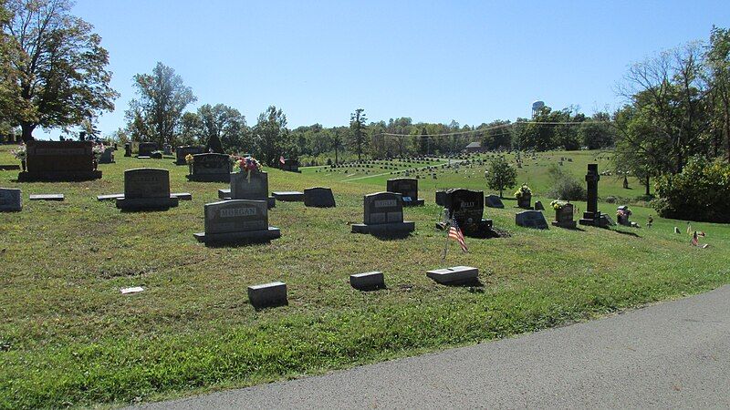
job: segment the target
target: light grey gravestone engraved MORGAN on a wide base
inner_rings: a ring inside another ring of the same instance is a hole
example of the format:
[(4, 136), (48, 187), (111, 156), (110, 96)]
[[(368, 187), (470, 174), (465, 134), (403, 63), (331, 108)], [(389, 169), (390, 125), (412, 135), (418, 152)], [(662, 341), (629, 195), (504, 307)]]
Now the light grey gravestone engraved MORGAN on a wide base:
[(205, 243), (271, 241), (281, 237), (278, 228), (268, 226), (265, 200), (222, 200), (206, 203), (205, 231), (194, 233)]

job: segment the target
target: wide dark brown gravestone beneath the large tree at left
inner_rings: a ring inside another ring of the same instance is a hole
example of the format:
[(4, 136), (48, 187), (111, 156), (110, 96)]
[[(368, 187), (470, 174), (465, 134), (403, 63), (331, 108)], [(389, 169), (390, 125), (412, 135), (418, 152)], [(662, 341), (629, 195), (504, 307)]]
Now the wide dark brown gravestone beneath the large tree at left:
[(20, 172), (18, 182), (79, 181), (101, 178), (94, 170), (91, 141), (28, 141), (27, 171)]

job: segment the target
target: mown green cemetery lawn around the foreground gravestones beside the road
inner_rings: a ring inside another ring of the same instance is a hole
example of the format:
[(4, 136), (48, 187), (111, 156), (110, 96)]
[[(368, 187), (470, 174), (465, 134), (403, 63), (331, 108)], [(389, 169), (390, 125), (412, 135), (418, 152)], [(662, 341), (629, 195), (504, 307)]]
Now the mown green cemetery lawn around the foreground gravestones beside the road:
[[(17, 163), (9, 149), (0, 146), (0, 164)], [(89, 182), (17, 183), (17, 171), (0, 171), (0, 187), (22, 189), (24, 202), (20, 213), (0, 213), (0, 407), (117, 406), (320, 374), (585, 321), (730, 282), (727, 226), (693, 223), (707, 232), (708, 249), (690, 246), (680, 220), (655, 218), (652, 229), (639, 230), (533, 231), (515, 226), (514, 200), (485, 210), (509, 237), (467, 238), (465, 254), (451, 241), (442, 261), (434, 189), (488, 192), (483, 168), (422, 180), (426, 206), (404, 210), (416, 231), (391, 241), (349, 227), (362, 221), (362, 196), (384, 190), (390, 174), (363, 171), (368, 178), (343, 181), (353, 177), (269, 169), (269, 190), (329, 186), (338, 207), (277, 202), (269, 224), (281, 229), (281, 239), (206, 248), (193, 232), (203, 231), (203, 204), (225, 185), (188, 182), (187, 167), (172, 158), (116, 154), (116, 164), (99, 166), (103, 179)], [(519, 181), (547, 207), (547, 163), (572, 157), (565, 167), (580, 177), (596, 154), (526, 159)], [(191, 192), (193, 200), (137, 213), (96, 200), (122, 192), (124, 169), (138, 167), (170, 169), (172, 191)], [(636, 181), (633, 190), (620, 182), (602, 178), (600, 196), (643, 192)], [(66, 200), (27, 200), (39, 193)], [(600, 209), (614, 216), (616, 204), (601, 202)], [(631, 209), (642, 226), (655, 215), (641, 202)], [(554, 213), (548, 208), (546, 216)], [(479, 268), (482, 285), (441, 286), (425, 276), (455, 265)], [(388, 289), (349, 287), (349, 274), (369, 271), (384, 272)], [(255, 311), (246, 286), (274, 281), (287, 282), (288, 306)], [(129, 286), (144, 292), (121, 295)]]

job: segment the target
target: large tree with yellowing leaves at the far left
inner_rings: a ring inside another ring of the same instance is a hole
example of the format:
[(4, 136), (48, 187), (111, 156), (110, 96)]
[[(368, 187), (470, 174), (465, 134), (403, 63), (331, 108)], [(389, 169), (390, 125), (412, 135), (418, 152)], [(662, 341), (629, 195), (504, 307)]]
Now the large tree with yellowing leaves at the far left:
[[(11, 92), (12, 122), (23, 140), (33, 130), (68, 128), (114, 109), (109, 53), (89, 23), (70, 15), (68, 0), (8, 0), (3, 35), (12, 37), (5, 81)], [(7, 48), (7, 47), (5, 47)], [(6, 68), (6, 67), (4, 67)], [(7, 97), (7, 96), (6, 96)]]

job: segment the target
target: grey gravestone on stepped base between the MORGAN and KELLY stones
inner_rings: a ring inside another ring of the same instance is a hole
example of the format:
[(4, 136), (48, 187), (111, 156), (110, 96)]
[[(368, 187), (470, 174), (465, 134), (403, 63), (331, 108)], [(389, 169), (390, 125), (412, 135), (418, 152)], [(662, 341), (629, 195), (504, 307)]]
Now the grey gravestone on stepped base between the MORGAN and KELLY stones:
[(401, 194), (378, 192), (363, 199), (363, 223), (352, 225), (352, 232), (373, 235), (401, 235), (415, 231), (415, 222), (403, 221)]

